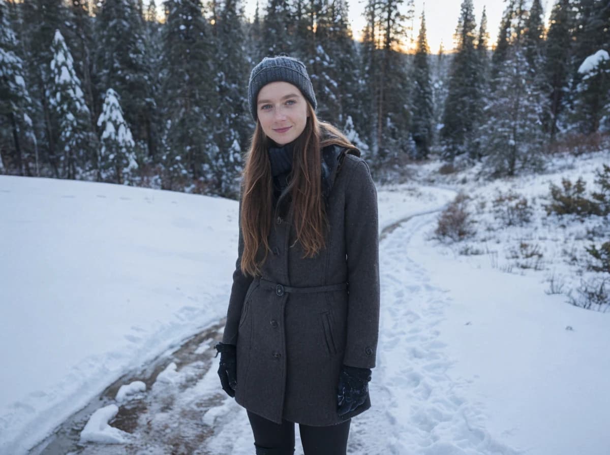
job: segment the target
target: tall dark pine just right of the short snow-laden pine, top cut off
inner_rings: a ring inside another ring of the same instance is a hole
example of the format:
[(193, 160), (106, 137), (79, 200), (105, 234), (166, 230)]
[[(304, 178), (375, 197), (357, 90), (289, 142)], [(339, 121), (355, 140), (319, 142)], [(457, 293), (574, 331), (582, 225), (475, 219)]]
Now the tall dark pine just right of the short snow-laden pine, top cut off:
[(163, 5), (163, 188), (184, 189), (189, 183), (185, 177), (204, 186), (213, 178), (209, 156), (219, 150), (214, 139), (219, 105), (212, 66), (215, 41), (200, 0), (166, 0)]

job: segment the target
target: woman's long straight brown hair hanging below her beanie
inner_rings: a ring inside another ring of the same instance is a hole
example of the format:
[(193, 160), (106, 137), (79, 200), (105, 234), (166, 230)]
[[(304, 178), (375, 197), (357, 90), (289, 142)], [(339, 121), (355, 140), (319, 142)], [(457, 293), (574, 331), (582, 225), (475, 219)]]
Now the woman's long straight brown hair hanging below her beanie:
[[(287, 189), (292, 196), (292, 222), (295, 225), (296, 241), (300, 242), (305, 252), (303, 258), (311, 258), (325, 247), (325, 235), (328, 230), (320, 182), (321, 150), (334, 144), (360, 154), (338, 129), (318, 121), (309, 102), (307, 112), (309, 116), (305, 129), (294, 142), (292, 178)], [(261, 274), (260, 267), (265, 263), (270, 251), (267, 236), (274, 219), (273, 183), (267, 153), (270, 145), (271, 140), (257, 121), (242, 172), (240, 214), (244, 243), (241, 267), (243, 273), (251, 276)], [(264, 247), (265, 255), (257, 262), (256, 255), (260, 245)]]

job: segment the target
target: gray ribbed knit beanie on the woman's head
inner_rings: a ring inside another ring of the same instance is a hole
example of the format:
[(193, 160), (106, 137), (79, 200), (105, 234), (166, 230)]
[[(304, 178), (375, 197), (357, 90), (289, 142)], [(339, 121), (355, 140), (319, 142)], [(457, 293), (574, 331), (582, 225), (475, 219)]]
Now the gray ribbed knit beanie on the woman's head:
[(292, 57), (265, 57), (254, 66), (248, 82), (248, 104), (252, 118), (256, 122), (256, 99), (259, 91), (270, 82), (289, 82), (298, 87), (312, 107), (317, 108), (314, 87), (309, 74), (300, 60)]

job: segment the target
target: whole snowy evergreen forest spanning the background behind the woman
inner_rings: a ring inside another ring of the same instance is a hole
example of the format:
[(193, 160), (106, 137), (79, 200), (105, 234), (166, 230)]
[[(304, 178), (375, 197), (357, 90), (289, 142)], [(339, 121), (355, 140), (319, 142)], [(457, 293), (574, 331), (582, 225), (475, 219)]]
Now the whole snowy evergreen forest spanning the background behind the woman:
[(463, 0), (453, 51), (432, 53), (413, 0), (365, 1), (358, 41), (346, 0), (253, 18), (237, 0), (0, 0), (0, 174), (237, 197), (249, 71), (282, 53), (380, 181), (430, 158), (542, 169), (610, 133), (610, 1), (550, 7), (546, 23), (541, 0), (504, 0), (488, 24)]

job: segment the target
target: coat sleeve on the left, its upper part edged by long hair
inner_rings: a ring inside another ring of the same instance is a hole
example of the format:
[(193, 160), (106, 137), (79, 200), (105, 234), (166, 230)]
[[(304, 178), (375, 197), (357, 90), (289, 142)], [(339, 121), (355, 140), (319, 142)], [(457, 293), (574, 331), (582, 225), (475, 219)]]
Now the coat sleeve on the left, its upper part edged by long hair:
[(233, 272), (233, 284), (231, 286), (231, 297), (229, 297), (229, 308), (227, 309), (227, 322), (224, 326), (223, 343), (236, 345), (239, 320), (242, 316), (243, 300), (248, 292), (248, 287), (254, 280), (250, 275), (242, 273), (243, 234), (242, 234), (242, 196), (239, 197), (239, 210), (237, 211), (239, 239), (237, 241), (237, 261), (235, 261), (235, 272)]

